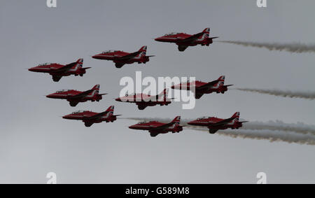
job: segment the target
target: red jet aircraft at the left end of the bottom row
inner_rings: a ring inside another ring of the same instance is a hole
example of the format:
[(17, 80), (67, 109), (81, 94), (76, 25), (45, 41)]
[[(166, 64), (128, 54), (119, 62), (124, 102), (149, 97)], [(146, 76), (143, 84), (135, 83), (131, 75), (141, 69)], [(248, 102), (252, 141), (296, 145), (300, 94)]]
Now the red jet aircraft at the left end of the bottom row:
[(62, 118), (69, 120), (82, 120), (84, 122), (85, 127), (90, 127), (94, 123), (100, 122), (113, 122), (117, 120), (117, 116), (113, 115), (114, 106), (110, 106), (106, 111), (102, 113), (95, 113), (92, 111), (76, 111), (69, 115), (64, 115)]

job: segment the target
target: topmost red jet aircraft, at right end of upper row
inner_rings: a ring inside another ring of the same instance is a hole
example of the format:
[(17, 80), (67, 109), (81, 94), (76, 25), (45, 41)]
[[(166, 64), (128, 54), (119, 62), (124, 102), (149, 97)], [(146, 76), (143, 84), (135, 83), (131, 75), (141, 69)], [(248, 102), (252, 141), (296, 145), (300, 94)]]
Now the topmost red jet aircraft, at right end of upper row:
[(164, 36), (155, 38), (155, 41), (160, 42), (167, 42), (167, 43), (176, 43), (176, 45), (179, 45), (179, 51), (183, 52), (188, 48), (189, 46), (195, 46), (195, 45), (207, 45), (209, 46), (211, 43), (213, 43), (212, 39), (218, 38), (211, 37), (209, 38), (209, 32), (210, 28), (204, 29), (204, 31), (198, 33), (198, 34), (186, 34), (186, 33), (170, 33), (165, 34)]

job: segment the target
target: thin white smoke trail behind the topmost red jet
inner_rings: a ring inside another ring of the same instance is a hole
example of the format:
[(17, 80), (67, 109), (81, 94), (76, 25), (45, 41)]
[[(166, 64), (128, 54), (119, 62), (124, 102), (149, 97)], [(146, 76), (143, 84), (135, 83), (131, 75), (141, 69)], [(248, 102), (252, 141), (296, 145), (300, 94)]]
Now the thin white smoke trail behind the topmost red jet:
[(266, 48), (268, 50), (278, 50), (286, 52), (315, 52), (315, 44), (307, 45), (302, 43), (259, 43), (259, 42), (247, 42), (247, 41), (216, 41), (220, 43), (232, 43), (235, 45), (243, 45), (245, 47), (251, 46), (256, 48)]

